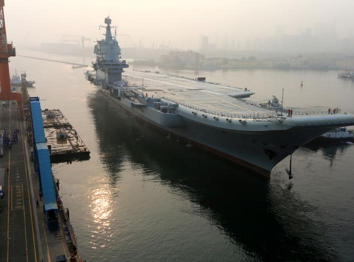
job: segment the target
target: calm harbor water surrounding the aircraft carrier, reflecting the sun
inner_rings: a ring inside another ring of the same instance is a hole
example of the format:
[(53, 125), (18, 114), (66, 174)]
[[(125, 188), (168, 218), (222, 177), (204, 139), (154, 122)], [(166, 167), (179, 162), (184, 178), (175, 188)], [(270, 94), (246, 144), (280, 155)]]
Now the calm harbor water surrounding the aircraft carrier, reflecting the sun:
[[(287, 157), (265, 180), (137, 121), (85, 79), (86, 68), (14, 57), (15, 68), (36, 81), (29, 92), (42, 109), (59, 108), (91, 151), (90, 160), (53, 164), (87, 261), (354, 259), (353, 144), (302, 146), (292, 155), (293, 179)], [(170, 73), (247, 87), (257, 102), (281, 100), (284, 88), (284, 107), (354, 113), (354, 81), (337, 71)]]

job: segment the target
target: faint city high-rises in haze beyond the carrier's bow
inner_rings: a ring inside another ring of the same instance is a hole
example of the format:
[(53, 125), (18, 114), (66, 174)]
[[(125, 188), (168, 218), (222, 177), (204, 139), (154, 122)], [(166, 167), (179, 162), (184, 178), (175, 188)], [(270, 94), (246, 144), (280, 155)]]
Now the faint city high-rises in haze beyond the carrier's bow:
[[(235, 45), (235, 42), (237, 44)], [(277, 25), (273, 35), (266, 37), (253, 37), (245, 40), (224, 35), (220, 39), (210, 40), (209, 36), (201, 36), (199, 50), (207, 54), (216, 49), (228, 51), (277, 51), (289, 53), (306, 52), (354, 52), (354, 37), (338, 38), (333, 23), (316, 23), (314, 28), (307, 27), (296, 34), (289, 34), (283, 26)]]

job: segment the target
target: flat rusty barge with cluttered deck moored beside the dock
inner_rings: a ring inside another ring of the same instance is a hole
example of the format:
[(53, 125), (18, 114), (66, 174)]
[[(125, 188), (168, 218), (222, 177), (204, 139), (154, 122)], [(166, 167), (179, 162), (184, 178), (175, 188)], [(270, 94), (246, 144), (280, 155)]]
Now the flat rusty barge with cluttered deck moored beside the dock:
[(51, 161), (88, 160), (90, 151), (59, 109), (42, 111), (43, 126)]

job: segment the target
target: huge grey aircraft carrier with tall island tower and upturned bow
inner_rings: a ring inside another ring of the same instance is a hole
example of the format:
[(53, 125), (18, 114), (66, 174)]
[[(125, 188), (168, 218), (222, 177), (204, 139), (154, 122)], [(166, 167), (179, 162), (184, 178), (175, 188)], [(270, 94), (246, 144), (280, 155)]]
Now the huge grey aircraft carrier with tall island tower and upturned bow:
[[(184, 137), (266, 177), (299, 146), (336, 127), (354, 124), (354, 115), (292, 117), (244, 100), (250, 90), (150, 71), (129, 70), (106, 18), (105, 39), (95, 45), (96, 61), (86, 77), (117, 105), (146, 123)], [(308, 113), (308, 112), (307, 112)]]

